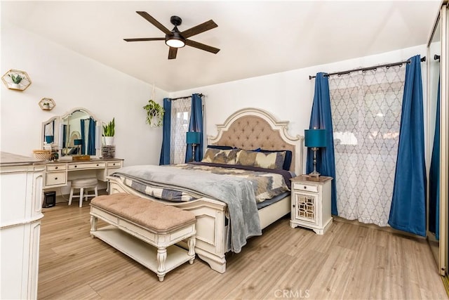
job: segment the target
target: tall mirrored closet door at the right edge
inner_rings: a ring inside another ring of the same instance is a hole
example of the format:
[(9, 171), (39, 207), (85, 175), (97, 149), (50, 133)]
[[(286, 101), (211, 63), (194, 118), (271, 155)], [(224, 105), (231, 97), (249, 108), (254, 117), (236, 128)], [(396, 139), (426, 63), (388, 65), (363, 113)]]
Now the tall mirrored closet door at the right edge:
[[(438, 272), (449, 287), (448, 262), (448, 1), (443, 1), (427, 48), (427, 236)], [(449, 290), (449, 289), (448, 289)]]

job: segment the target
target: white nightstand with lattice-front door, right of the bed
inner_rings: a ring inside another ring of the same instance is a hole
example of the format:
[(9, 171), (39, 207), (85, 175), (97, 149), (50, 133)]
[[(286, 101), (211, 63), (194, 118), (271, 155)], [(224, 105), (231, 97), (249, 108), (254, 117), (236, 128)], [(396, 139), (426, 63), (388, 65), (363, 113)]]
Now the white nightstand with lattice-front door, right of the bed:
[(292, 182), (290, 226), (310, 228), (322, 235), (332, 224), (330, 183), (332, 177), (307, 175), (290, 178)]

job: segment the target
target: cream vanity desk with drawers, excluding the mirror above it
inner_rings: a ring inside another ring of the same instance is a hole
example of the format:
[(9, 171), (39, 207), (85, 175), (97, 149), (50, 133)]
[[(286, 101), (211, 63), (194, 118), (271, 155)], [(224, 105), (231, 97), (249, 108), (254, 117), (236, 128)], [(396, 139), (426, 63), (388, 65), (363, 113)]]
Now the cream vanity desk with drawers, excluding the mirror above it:
[(66, 186), (68, 181), (75, 178), (96, 177), (100, 181), (107, 181), (106, 177), (121, 167), (123, 167), (123, 159), (119, 158), (47, 162), (43, 176), (43, 188)]

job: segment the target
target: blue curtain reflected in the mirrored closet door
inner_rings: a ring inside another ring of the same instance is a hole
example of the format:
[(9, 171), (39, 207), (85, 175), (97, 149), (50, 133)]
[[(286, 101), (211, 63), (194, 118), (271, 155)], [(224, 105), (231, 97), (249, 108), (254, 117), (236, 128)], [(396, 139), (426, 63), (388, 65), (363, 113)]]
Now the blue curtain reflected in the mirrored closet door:
[(435, 134), (429, 173), (429, 231), (440, 239), (440, 80), (436, 96)]

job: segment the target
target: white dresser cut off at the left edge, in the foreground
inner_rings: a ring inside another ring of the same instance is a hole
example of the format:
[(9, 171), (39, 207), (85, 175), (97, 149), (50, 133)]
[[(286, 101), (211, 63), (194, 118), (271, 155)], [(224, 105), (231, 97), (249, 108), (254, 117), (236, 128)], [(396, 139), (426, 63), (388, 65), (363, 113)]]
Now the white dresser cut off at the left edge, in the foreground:
[(0, 299), (36, 299), (45, 167), (1, 152)]

